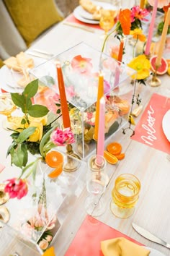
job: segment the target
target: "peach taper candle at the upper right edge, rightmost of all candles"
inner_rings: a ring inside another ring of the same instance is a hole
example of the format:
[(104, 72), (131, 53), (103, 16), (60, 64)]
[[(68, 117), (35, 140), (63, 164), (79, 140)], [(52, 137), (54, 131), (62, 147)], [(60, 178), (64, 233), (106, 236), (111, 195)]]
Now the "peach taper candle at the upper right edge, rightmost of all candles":
[(162, 31), (162, 35), (161, 35), (161, 42), (159, 44), (159, 48), (158, 48), (158, 55), (156, 58), (156, 67), (161, 66), (161, 58), (164, 52), (164, 47), (165, 47), (165, 42), (166, 42), (166, 35), (168, 32), (168, 28), (169, 28), (169, 21), (170, 21), (170, 8), (168, 9), (168, 12), (166, 14), (166, 20), (164, 23), (164, 28)]

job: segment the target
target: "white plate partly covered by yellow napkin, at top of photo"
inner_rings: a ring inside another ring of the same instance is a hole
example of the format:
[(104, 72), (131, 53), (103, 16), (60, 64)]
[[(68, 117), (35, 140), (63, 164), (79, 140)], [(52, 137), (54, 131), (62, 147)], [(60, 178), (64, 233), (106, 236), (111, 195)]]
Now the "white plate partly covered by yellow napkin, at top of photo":
[[(95, 1), (96, 5), (99, 5), (103, 9), (110, 9), (110, 10), (116, 10), (117, 7), (114, 7), (112, 4), (104, 3), (102, 1)], [(89, 12), (86, 12), (83, 7), (79, 5), (79, 7), (76, 7), (73, 11), (74, 17), (76, 17), (77, 20), (80, 20), (81, 22), (86, 22), (89, 24), (99, 24), (99, 20), (93, 20), (92, 14)]]

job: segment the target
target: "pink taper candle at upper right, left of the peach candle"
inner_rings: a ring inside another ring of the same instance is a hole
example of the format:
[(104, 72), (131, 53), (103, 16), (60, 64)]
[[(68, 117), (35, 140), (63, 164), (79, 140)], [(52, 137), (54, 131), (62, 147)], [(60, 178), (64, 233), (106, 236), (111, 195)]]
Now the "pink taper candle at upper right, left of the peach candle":
[(155, 4), (153, 6), (152, 17), (151, 17), (151, 23), (150, 23), (149, 30), (148, 30), (148, 40), (146, 41), (146, 51), (145, 51), (146, 55), (150, 54), (151, 41), (152, 41), (152, 35), (153, 35), (153, 30), (154, 30), (154, 25), (155, 25), (155, 20), (156, 20), (157, 8), (158, 8), (158, 0), (155, 0)]

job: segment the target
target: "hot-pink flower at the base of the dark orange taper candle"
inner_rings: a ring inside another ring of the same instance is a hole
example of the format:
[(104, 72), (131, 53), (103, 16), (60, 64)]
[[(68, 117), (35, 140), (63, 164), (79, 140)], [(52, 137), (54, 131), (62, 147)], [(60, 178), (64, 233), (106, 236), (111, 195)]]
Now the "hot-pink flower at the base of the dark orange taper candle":
[(50, 140), (57, 146), (68, 145), (75, 142), (71, 128), (66, 128), (63, 130), (56, 128), (50, 135)]

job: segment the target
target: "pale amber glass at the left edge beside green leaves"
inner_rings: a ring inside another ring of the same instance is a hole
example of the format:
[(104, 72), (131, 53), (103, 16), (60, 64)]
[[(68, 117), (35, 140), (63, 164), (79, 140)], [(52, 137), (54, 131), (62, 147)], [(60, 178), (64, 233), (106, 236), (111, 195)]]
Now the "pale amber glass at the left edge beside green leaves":
[(15, 117), (12, 116), (12, 112), (16, 109), (14, 102), (12, 101), (9, 93), (2, 93), (0, 95), (0, 114), (7, 116), (7, 120), (2, 122), (4, 129), (10, 127), (10, 122), (13, 122)]

